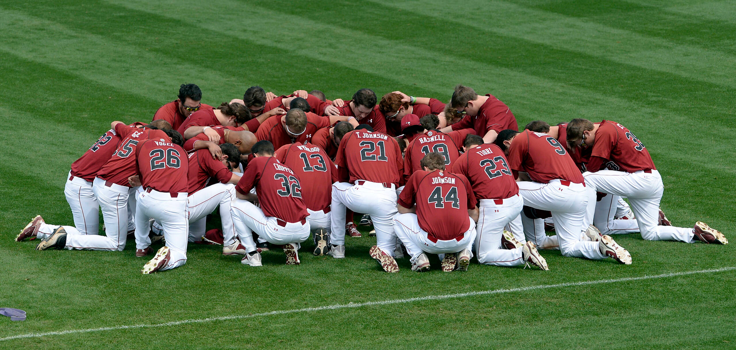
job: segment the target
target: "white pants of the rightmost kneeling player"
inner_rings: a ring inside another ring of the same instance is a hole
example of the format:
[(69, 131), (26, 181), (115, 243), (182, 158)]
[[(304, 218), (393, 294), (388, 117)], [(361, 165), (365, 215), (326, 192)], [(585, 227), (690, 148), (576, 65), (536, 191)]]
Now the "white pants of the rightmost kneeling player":
[(679, 240), (693, 243), (693, 229), (675, 226), (659, 226), (659, 201), (665, 191), (659, 171), (650, 172), (601, 170), (583, 174), (585, 182), (599, 192), (615, 194), (629, 199), (631, 210), (637, 216), (637, 224), (645, 240)]

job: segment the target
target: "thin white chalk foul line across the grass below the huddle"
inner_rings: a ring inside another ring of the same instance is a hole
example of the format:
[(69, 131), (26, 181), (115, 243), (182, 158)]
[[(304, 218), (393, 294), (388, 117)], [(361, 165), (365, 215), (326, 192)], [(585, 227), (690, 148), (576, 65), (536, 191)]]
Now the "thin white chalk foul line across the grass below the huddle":
[(110, 326), (110, 327), (88, 328), (88, 329), (70, 329), (67, 331), (58, 331), (58, 332), (29, 333), (29, 334), (24, 334), (24, 335), (12, 335), (10, 337), (3, 337), (3, 338), (0, 338), (0, 341), (21, 339), (21, 338), (26, 338), (26, 337), (46, 337), (49, 335), (68, 335), (68, 334), (74, 334), (74, 333), (102, 332), (102, 331), (111, 331), (111, 330), (116, 330), (116, 329), (165, 327), (165, 326), (177, 326), (179, 324), (199, 324), (202, 322), (210, 322), (210, 321), (237, 320), (241, 318), (255, 318), (255, 317), (270, 316), (270, 315), (284, 315), (284, 314), (297, 313), (297, 312), (337, 310), (337, 309), (346, 309), (348, 307), (365, 307), (365, 306), (372, 306), (372, 305), (404, 304), (404, 303), (410, 303), (413, 301), (464, 298), (466, 296), (484, 296), (486, 294), (524, 292), (527, 290), (537, 290), (537, 289), (547, 289), (547, 288), (557, 288), (557, 287), (575, 287), (578, 285), (600, 285), (602, 283), (629, 282), (629, 281), (639, 281), (641, 279), (659, 279), (659, 278), (665, 278), (665, 277), (685, 276), (685, 275), (691, 275), (691, 274), (709, 274), (712, 272), (723, 272), (723, 271), (732, 271), (732, 270), (736, 270), (736, 266), (732, 266), (729, 268), (712, 268), (709, 270), (672, 272), (670, 274), (659, 274), (659, 275), (654, 275), (654, 276), (623, 277), (623, 278), (618, 278), (618, 279), (598, 279), (595, 281), (567, 282), (567, 283), (558, 283), (556, 285), (532, 285), (529, 287), (481, 290), (478, 292), (445, 294), (441, 296), (417, 296), (416, 298), (408, 298), (408, 299), (367, 301), (364, 303), (335, 304), (335, 305), (327, 305), (327, 306), (322, 306), (322, 307), (305, 307), (304, 309), (276, 310), (276, 311), (269, 311), (269, 312), (252, 313), (250, 315), (232, 315), (232, 316), (221, 316), (221, 317), (210, 317), (210, 318), (194, 318), (194, 319), (182, 320), (182, 321), (171, 321), (171, 322), (166, 322), (163, 324), (132, 324), (130, 326)]

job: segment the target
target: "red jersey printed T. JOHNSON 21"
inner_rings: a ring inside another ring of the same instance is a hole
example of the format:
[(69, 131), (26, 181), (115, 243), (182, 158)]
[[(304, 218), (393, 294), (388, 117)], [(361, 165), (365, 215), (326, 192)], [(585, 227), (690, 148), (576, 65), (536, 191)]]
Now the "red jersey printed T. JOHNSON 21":
[(399, 143), (394, 137), (365, 129), (353, 130), (342, 137), (335, 164), (340, 181), (366, 180), (399, 185), (404, 171)]

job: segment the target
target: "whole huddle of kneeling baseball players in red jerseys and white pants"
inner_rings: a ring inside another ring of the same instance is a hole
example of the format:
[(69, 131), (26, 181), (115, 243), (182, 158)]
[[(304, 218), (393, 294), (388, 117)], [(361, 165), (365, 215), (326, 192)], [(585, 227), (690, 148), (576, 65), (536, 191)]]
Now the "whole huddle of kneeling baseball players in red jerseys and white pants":
[[(447, 272), (467, 271), (473, 257), (548, 270), (543, 249), (631, 264), (612, 238), (631, 232), (728, 243), (701, 221), (670, 224), (648, 150), (615, 121), (533, 121), (520, 132), (506, 104), (462, 85), (447, 104), (400, 91), (330, 101), (319, 90), (275, 96), (258, 86), (219, 107), (201, 100), (185, 84), (150, 123), (113, 121), (71, 164), (74, 226), (37, 215), (16, 240), (122, 251), (135, 239), (136, 257), (153, 255), (143, 274), (184, 265), (195, 242), (222, 244), (251, 266), (276, 248), (298, 265), (310, 237), (314, 255), (344, 258), (345, 237), (361, 236), (355, 213), (375, 228), (369, 255), (386, 272), (403, 257), (428, 271), (428, 254)], [(205, 232), (218, 207), (222, 229)], [(155, 243), (164, 246), (154, 253)]]

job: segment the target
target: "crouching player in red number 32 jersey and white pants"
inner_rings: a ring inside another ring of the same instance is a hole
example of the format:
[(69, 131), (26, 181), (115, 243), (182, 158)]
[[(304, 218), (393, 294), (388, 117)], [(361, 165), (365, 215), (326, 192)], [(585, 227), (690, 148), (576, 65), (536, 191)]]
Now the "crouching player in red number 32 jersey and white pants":
[[(302, 200), (302, 187), (297, 175), (274, 157), (274, 145), (261, 140), (252, 148), (255, 158), (248, 162), (236, 185), (237, 199), (230, 205), (233, 224), (247, 253), (241, 260), (261, 266), (261, 254), (255, 248), (251, 230), (272, 244), (283, 245), (286, 265), (299, 265), (297, 251), (309, 238), (309, 213)], [(255, 192), (250, 190), (255, 187)], [(250, 201), (258, 201), (256, 207)]]

